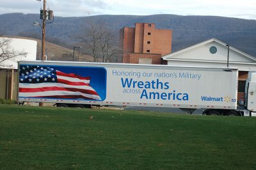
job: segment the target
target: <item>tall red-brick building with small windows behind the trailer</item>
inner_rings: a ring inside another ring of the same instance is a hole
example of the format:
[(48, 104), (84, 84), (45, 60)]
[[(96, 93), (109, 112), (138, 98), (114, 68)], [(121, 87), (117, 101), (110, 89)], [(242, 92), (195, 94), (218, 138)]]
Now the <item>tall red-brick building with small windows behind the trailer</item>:
[(172, 30), (155, 29), (155, 24), (136, 23), (120, 29), (123, 63), (161, 64), (172, 51)]

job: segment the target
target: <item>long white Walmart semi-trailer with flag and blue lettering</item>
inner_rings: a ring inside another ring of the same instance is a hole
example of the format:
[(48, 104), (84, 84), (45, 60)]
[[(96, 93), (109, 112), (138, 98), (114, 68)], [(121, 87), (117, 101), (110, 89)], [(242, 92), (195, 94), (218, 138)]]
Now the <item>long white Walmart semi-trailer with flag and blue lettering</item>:
[(253, 109), (237, 111), (237, 79), (236, 68), (20, 61), (18, 98), (69, 107), (205, 108), (205, 114), (248, 116)]

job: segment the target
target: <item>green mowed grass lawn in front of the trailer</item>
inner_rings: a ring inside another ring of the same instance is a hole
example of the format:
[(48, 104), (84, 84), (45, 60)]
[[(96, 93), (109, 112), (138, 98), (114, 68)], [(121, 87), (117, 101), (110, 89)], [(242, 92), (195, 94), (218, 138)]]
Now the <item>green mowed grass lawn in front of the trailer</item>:
[(256, 169), (256, 118), (0, 105), (0, 169)]

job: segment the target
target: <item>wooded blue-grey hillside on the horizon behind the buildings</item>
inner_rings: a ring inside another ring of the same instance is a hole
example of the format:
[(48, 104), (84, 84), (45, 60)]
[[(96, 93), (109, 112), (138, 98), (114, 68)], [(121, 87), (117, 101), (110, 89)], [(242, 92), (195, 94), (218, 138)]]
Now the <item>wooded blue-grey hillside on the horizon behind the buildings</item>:
[[(84, 29), (89, 20), (106, 22), (108, 29), (116, 32), (116, 41), (120, 28), (133, 27), (136, 22), (150, 22), (156, 24), (157, 29), (173, 30), (173, 52), (210, 38), (217, 38), (256, 57), (256, 20), (228, 17), (180, 15), (54, 17), (54, 22), (47, 24), (46, 39), (48, 42), (72, 49), (79, 43), (78, 37), (84, 37)], [(41, 22), (38, 14), (3, 14), (0, 15), (0, 33), (40, 39), (41, 28), (33, 26), (33, 22)]]

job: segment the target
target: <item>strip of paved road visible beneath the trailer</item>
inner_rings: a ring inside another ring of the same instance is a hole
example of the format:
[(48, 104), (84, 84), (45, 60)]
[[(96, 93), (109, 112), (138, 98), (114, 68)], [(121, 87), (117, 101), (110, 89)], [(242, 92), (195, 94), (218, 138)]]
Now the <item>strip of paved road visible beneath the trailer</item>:
[[(170, 108), (170, 107), (125, 107), (124, 109), (131, 109), (131, 110), (143, 110), (143, 111), (156, 111), (156, 112), (174, 112), (184, 114), (185, 112), (177, 109), (177, 108)], [(193, 114), (202, 115), (203, 109), (196, 109)]]

